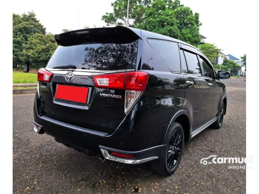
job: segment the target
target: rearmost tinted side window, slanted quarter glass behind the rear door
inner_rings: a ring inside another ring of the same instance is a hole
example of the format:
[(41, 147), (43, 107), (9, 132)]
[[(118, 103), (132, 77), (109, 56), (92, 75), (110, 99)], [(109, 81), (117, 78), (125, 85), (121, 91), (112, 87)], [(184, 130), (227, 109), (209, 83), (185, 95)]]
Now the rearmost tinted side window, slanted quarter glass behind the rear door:
[(173, 72), (181, 72), (179, 48), (176, 42), (148, 39), (148, 43)]

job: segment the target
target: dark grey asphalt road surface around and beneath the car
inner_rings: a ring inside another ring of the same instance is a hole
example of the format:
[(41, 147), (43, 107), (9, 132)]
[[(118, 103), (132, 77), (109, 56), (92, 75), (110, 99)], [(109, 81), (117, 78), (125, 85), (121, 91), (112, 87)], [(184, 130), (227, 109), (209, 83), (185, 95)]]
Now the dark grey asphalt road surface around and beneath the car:
[(13, 193), (245, 193), (246, 170), (200, 164), (202, 158), (245, 157), (246, 82), (223, 80), (227, 113), (222, 128), (206, 129), (189, 143), (178, 170), (154, 174), (148, 164), (101, 163), (55, 142), (33, 127), (34, 94), (13, 95)]

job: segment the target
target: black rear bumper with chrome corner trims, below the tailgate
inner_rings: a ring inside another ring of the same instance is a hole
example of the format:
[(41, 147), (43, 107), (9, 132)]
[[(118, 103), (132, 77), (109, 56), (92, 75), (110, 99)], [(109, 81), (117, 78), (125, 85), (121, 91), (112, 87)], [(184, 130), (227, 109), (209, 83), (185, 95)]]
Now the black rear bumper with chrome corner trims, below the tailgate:
[[(35, 100), (36, 101), (36, 100)], [(88, 155), (101, 154), (104, 158), (126, 164), (140, 164), (161, 158), (166, 152), (166, 145), (152, 145), (154, 142), (143, 142), (146, 147), (139, 146), (138, 140), (132, 140), (131, 133), (118, 132), (108, 134), (106, 132), (95, 131), (70, 125), (46, 116), (39, 116), (34, 104), (34, 131), (38, 134), (48, 134), (65, 146), (84, 152)], [(144, 135), (144, 134), (143, 134)], [(147, 148), (148, 147), (148, 148)], [(126, 151), (127, 150), (127, 151)], [(111, 152), (118, 152), (126, 155), (134, 155), (133, 159), (114, 157)]]

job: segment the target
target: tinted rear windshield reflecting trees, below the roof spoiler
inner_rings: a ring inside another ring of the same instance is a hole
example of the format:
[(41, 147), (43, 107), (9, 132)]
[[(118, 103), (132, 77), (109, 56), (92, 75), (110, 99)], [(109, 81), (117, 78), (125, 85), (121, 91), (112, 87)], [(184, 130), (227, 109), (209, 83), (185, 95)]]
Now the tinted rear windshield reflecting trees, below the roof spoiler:
[(129, 44), (59, 45), (47, 67), (74, 65), (76, 69), (123, 70), (135, 69), (138, 41)]

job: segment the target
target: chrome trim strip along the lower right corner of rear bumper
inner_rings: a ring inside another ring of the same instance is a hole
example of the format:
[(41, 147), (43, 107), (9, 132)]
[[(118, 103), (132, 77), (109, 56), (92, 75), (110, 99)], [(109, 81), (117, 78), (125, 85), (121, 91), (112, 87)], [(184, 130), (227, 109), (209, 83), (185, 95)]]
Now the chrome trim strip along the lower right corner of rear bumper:
[(149, 158), (145, 158), (145, 159), (140, 159), (140, 160), (134, 160), (134, 159), (130, 160), (130, 159), (117, 158), (117, 157), (111, 156), (108, 153), (108, 151), (104, 150), (104, 149), (101, 149), (101, 153), (102, 153), (102, 155), (105, 159), (113, 160), (115, 162), (120, 162), (120, 163), (124, 163), (124, 164), (141, 164), (141, 163), (144, 163), (144, 162), (149, 162), (149, 161), (158, 159), (157, 156), (149, 157)]

